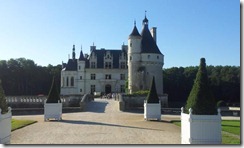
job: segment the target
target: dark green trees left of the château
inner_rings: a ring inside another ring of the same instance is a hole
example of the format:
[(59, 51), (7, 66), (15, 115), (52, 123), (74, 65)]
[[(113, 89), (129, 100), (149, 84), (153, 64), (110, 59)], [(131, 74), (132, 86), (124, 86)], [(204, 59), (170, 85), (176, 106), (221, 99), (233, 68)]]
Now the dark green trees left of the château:
[(62, 66), (38, 66), (34, 61), (19, 58), (0, 61), (0, 79), (5, 95), (48, 95), (53, 76), (60, 86)]

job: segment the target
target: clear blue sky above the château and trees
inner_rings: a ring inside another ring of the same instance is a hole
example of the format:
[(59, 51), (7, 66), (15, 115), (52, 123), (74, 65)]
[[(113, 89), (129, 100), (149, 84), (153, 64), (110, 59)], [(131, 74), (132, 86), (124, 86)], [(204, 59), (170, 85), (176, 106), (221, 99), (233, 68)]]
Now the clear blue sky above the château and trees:
[(147, 10), (157, 27), (164, 68), (240, 66), (238, 0), (0, 0), (0, 60), (24, 57), (37, 65), (67, 62), (79, 52), (120, 49), (134, 20), (141, 32)]

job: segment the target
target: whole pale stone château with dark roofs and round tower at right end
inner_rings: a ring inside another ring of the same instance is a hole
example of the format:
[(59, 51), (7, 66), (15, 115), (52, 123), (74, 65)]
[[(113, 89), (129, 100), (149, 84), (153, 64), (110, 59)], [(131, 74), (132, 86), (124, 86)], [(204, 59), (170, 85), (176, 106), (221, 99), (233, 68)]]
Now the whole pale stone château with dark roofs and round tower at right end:
[(72, 58), (62, 64), (61, 95), (125, 93), (126, 80), (129, 93), (149, 90), (153, 76), (158, 95), (163, 95), (164, 55), (156, 44), (156, 28), (149, 31), (146, 16), (141, 34), (134, 23), (128, 46), (110, 50), (93, 45), (89, 55), (81, 50), (79, 58), (75, 45), (72, 50)]

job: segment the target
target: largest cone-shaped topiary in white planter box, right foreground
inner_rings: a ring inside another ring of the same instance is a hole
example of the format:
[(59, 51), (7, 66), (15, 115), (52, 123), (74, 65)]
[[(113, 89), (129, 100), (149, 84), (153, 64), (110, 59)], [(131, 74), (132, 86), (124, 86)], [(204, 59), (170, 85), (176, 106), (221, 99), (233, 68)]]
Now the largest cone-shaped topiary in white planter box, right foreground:
[(221, 144), (221, 115), (210, 90), (205, 59), (200, 66), (185, 108), (181, 108), (182, 144)]

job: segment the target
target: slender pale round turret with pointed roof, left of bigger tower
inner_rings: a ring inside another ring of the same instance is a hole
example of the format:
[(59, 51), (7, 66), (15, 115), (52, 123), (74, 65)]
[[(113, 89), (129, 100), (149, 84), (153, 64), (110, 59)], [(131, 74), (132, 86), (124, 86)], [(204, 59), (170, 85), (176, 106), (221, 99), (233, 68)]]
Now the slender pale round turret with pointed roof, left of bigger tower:
[(138, 70), (141, 61), (141, 35), (139, 34), (136, 23), (128, 39), (128, 89), (129, 93), (140, 90), (140, 77)]

